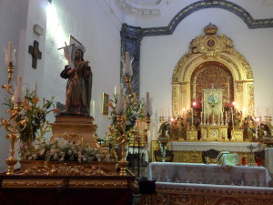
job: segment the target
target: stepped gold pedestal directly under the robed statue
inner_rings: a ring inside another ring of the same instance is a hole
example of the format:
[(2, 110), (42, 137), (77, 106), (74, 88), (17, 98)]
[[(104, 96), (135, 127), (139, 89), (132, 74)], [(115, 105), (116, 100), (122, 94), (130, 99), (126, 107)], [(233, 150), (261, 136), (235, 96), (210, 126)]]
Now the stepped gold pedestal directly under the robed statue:
[(96, 128), (93, 118), (88, 116), (56, 116), (55, 123), (51, 124), (52, 137), (76, 140), (79, 144), (88, 144), (90, 148), (98, 149)]

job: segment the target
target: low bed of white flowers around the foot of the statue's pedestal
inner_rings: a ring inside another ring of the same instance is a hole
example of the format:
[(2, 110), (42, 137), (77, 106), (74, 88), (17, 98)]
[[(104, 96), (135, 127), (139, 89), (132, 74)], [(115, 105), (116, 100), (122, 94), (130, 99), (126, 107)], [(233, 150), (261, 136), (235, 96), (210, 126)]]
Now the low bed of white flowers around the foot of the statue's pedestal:
[(77, 144), (75, 140), (55, 138), (54, 141), (37, 140), (34, 148), (20, 146), (22, 160), (45, 160), (66, 162), (110, 161), (110, 154)]

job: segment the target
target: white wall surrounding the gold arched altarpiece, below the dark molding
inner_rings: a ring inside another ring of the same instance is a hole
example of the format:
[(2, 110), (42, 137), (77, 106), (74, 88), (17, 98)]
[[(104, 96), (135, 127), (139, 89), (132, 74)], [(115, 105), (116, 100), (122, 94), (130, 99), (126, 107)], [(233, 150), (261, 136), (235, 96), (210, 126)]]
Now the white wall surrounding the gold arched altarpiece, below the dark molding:
[[(244, 1), (236, 1), (238, 2), (241, 2), (242, 6), (246, 5)], [(254, 7), (256, 18), (265, 17), (264, 9), (266, 13), (268, 10), (273, 10), (273, 5), (258, 7), (254, 1), (249, 1), (248, 8), (251, 7), (250, 3), (252, 4), (251, 11), (254, 10), (253, 6), (256, 6)], [(180, 5), (182, 7), (179, 7)], [(174, 1), (172, 6), (179, 11), (185, 4), (182, 1), (181, 4), (180, 1)], [(273, 16), (268, 14), (267, 17), (272, 18)], [(153, 25), (151, 22), (149, 22), (150, 25), (147, 25), (147, 22), (142, 23), (144, 26)], [(233, 40), (235, 49), (245, 56), (252, 68), (255, 107), (259, 106), (264, 110), (264, 114), (266, 114), (267, 107), (273, 110), (273, 93), (270, 91), (273, 76), (273, 28), (248, 29), (248, 26), (237, 15), (223, 9), (208, 8), (188, 15), (177, 26), (173, 35), (147, 36), (141, 42), (140, 96), (149, 91), (150, 97), (153, 97), (155, 115), (152, 121), (156, 123), (155, 129), (159, 128), (157, 110), (171, 107), (171, 81), (178, 60), (186, 54), (193, 38), (200, 34), (205, 35), (203, 28), (210, 22), (217, 25), (218, 35), (226, 34)], [(157, 132), (154, 132), (151, 138), (157, 139)]]

